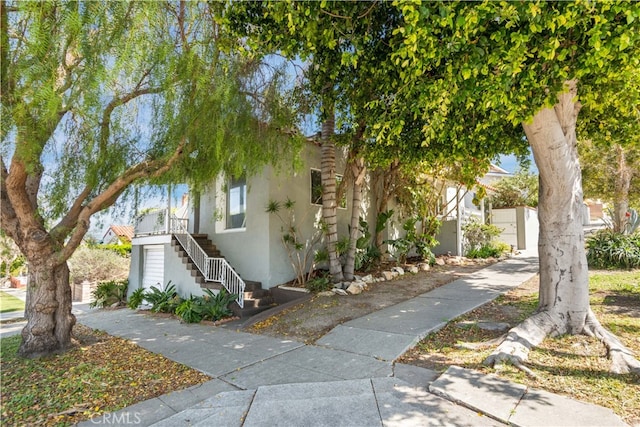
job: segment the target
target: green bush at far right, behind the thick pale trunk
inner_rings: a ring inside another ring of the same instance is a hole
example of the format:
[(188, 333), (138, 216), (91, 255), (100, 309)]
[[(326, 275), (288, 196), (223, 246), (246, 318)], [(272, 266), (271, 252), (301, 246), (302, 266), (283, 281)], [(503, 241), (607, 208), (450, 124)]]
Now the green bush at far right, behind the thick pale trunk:
[(640, 234), (600, 230), (587, 239), (587, 262), (592, 268), (640, 268)]

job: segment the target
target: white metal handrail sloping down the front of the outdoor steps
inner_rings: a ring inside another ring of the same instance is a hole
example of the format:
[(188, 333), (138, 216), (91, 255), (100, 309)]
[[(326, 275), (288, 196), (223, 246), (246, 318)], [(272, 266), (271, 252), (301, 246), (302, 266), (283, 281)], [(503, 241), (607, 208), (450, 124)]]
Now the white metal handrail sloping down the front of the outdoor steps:
[[(172, 217), (172, 222), (175, 217)], [(179, 220), (179, 218), (175, 218)], [(189, 258), (196, 265), (200, 273), (207, 282), (219, 282), (230, 294), (238, 295), (236, 302), (240, 308), (244, 308), (244, 289), (246, 284), (244, 280), (236, 273), (231, 265), (224, 258), (213, 258), (198, 244), (196, 239), (187, 231), (182, 222), (176, 222), (176, 230), (174, 233), (180, 245), (187, 252)]]

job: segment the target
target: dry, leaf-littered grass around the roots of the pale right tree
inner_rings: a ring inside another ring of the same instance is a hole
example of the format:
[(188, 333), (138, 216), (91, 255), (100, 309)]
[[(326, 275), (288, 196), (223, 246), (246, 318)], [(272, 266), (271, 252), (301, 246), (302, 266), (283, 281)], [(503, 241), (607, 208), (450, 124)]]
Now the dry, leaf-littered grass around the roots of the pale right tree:
[[(477, 321), (517, 325), (538, 302), (538, 279), (532, 279), (497, 300), (450, 322), (403, 357), (438, 371), (451, 365), (495, 373), (533, 388), (611, 408), (630, 425), (640, 425), (640, 376), (609, 372), (605, 347), (587, 336), (547, 338), (529, 354), (526, 364), (536, 378), (513, 366), (494, 370), (482, 361), (495, 349), (503, 332), (487, 331)], [(590, 275), (591, 308), (600, 322), (640, 357), (640, 270), (594, 271)]]

